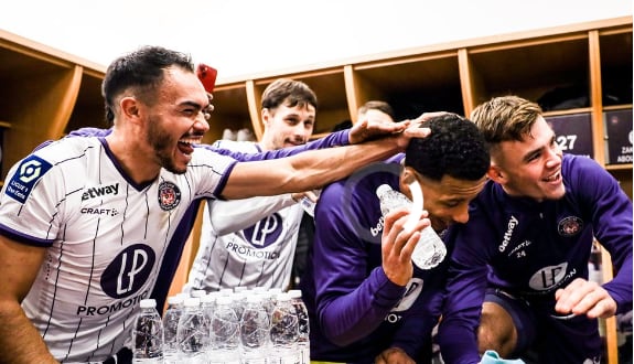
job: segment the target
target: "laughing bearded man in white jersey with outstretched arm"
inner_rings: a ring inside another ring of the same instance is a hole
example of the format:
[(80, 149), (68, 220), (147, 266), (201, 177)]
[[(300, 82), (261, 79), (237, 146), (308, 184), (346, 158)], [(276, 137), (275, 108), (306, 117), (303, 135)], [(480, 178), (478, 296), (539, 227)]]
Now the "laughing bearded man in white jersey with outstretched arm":
[(139, 300), (170, 283), (196, 201), (313, 190), (427, 135), (380, 125), (364, 136), (390, 137), (237, 162), (194, 147), (209, 128), (209, 97), (189, 55), (155, 46), (116, 60), (103, 93), (107, 137), (50, 143), (3, 184), (2, 363), (114, 363)]

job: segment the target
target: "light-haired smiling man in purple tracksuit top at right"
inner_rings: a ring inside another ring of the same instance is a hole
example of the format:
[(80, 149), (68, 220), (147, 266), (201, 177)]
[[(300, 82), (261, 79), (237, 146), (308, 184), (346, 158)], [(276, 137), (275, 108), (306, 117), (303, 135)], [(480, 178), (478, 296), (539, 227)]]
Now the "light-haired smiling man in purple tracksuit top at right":
[[(490, 181), (456, 224), (439, 344), (447, 363), (530, 350), (538, 363), (600, 363), (598, 318), (632, 310), (632, 202), (587, 157), (562, 154), (537, 104), (476, 107), (491, 143)], [(597, 239), (616, 276), (588, 279)]]

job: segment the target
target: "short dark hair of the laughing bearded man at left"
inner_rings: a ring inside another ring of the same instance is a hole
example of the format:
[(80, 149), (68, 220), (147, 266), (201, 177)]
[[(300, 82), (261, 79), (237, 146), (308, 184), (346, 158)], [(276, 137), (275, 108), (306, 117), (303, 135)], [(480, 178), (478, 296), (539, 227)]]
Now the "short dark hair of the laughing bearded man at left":
[(106, 104), (106, 120), (115, 119), (115, 97), (133, 87), (138, 97), (151, 103), (155, 87), (164, 77), (164, 69), (178, 66), (194, 73), (194, 63), (189, 54), (161, 46), (144, 45), (112, 61), (101, 83), (101, 95)]

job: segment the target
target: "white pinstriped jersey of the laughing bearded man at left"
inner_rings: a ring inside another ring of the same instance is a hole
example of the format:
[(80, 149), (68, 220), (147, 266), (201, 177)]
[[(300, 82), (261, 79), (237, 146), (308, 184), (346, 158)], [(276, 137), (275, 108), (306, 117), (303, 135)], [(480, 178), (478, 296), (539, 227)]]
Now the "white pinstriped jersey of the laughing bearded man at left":
[(138, 185), (105, 139), (65, 138), (11, 169), (0, 233), (47, 250), (22, 307), (58, 361), (100, 362), (123, 346), (161, 261), (178, 259), (165, 251), (187, 207), (219, 193), (235, 163), (196, 148), (184, 174)]

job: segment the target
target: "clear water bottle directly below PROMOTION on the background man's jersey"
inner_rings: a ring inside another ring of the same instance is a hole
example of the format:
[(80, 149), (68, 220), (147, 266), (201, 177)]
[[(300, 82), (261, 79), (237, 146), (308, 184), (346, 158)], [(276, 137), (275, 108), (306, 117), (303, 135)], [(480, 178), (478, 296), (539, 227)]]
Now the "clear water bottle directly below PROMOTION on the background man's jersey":
[(260, 295), (247, 296), (240, 318), (243, 364), (266, 364), (270, 349), (270, 323)]

